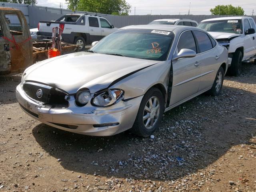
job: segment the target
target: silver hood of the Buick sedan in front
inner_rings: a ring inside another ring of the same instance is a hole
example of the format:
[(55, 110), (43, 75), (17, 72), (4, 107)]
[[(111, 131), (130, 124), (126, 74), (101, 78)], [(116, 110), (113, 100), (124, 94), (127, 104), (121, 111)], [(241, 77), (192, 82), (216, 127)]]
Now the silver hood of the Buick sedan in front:
[[(158, 61), (78, 52), (51, 58), (30, 66), (24, 72), (24, 81), (49, 84), (65, 90), (69, 94), (80, 88), (88, 88), (91, 93), (107, 88), (112, 82), (127, 74), (146, 68)], [(26, 73), (26, 74), (25, 74)]]

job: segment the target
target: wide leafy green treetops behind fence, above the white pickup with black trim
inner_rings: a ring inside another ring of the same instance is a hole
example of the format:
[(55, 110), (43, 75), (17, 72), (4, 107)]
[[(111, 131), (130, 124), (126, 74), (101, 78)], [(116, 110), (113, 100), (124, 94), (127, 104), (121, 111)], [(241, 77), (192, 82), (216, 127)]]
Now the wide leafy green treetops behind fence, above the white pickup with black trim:
[(71, 10), (104, 14), (128, 15), (130, 4), (125, 0), (66, 0)]

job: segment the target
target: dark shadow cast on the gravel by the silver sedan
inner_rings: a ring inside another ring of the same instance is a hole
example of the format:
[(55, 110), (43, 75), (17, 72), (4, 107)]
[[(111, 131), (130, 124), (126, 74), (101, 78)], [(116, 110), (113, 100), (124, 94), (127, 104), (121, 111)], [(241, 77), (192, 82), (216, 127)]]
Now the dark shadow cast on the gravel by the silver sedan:
[(213, 164), (232, 146), (248, 143), (256, 133), (255, 108), (254, 93), (224, 86), (218, 97), (202, 94), (165, 113), (154, 139), (129, 132), (85, 136), (45, 124), (32, 132), (36, 142), (56, 162), (61, 159), (66, 170), (173, 180)]

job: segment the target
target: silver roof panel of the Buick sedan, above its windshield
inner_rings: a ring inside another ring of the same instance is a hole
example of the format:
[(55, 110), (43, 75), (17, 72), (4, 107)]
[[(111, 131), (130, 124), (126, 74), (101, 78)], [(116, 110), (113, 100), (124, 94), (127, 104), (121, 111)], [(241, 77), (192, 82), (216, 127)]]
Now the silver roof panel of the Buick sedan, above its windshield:
[(130, 25), (121, 29), (150, 29), (150, 30), (163, 30), (163, 31), (184, 31), (189, 29), (200, 30), (196, 27), (182, 26), (182, 25)]

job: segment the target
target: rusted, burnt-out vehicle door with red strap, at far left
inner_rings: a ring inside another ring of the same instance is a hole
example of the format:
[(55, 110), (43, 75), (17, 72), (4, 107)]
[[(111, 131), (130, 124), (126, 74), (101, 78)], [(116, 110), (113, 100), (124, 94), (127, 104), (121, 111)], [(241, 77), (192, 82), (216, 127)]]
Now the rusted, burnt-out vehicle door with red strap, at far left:
[(20, 11), (6, 11), (6, 34), (11, 55), (11, 71), (22, 71), (30, 66), (32, 58), (32, 40), (26, 18)]

